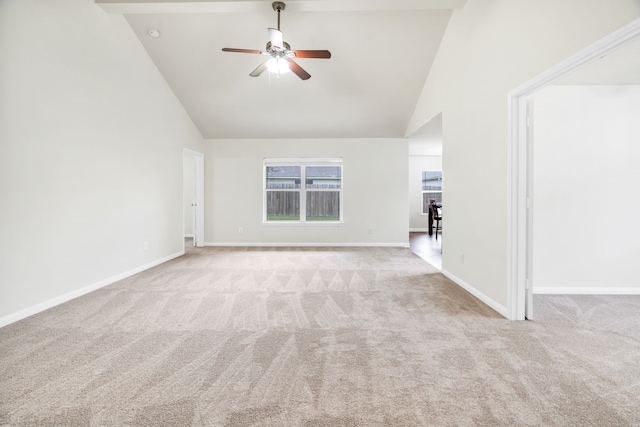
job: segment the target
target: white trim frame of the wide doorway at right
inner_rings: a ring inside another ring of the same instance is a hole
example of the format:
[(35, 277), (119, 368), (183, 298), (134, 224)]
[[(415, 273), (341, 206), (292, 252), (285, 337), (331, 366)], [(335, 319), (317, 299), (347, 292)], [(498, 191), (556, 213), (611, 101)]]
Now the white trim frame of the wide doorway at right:
[[(508, 194), (507, 194), (507, 315), (511, 320), (530, 318), (533, 283), (532, 207), (533, 179), (529, 97), (557, 78), (568, 74), (625, 43), (640, 37), (640, 18), (614, 31), (548, 69), (508, 94)], [(527, 307), (529, 305), (529, 307)], [(529, 308), (530, 310), (527, 310)]]

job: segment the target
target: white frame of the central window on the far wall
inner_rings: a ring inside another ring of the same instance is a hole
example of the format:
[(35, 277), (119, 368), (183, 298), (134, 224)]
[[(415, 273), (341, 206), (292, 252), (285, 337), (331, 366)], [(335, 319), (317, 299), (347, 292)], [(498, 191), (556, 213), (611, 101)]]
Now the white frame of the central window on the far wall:
[[(271, 166), (299, 166), (300, 188), (268, 189), (267, 167)], [(340, 167), (340, 188), (307, 188), (307, 167), (309, 166), (338, 166)], [(267, 193), (269, 191), (297, 192), (299, 194), (300, 212), (298, 220), (268, 220)], [(307, 192), (337, 192), (338, 220), (307, 221)], [(344, 162), (342, 158), (264, 158), (262, 162), (262, 224), (269, 226), (336, 226), (344, 224)]]

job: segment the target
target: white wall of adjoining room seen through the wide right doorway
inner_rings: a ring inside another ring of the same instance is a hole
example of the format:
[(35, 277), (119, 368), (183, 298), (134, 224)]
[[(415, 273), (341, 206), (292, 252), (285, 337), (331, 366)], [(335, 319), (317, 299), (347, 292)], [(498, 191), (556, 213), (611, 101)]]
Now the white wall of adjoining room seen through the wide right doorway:
[(640, 86), (551, 86), (533, 117), (534, 291), (639, 293)]

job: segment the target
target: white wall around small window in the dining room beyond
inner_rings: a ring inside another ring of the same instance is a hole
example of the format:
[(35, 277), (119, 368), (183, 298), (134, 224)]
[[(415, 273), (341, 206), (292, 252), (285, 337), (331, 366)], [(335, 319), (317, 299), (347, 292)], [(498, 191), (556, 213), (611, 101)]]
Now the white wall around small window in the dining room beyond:
[(422, 171), (442, 170), (442, 156), (409, 156), (409, 229), (428, 231), (429, 216), (422, 214)]

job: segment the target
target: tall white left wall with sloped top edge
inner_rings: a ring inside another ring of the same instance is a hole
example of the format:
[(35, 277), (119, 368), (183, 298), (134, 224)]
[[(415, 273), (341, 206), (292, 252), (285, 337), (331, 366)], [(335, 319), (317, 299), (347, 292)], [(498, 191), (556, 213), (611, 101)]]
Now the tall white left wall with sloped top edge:
[(0, 2), (0, 93), (0, 324), (183, 250), (202, 139), (122, 16)]

